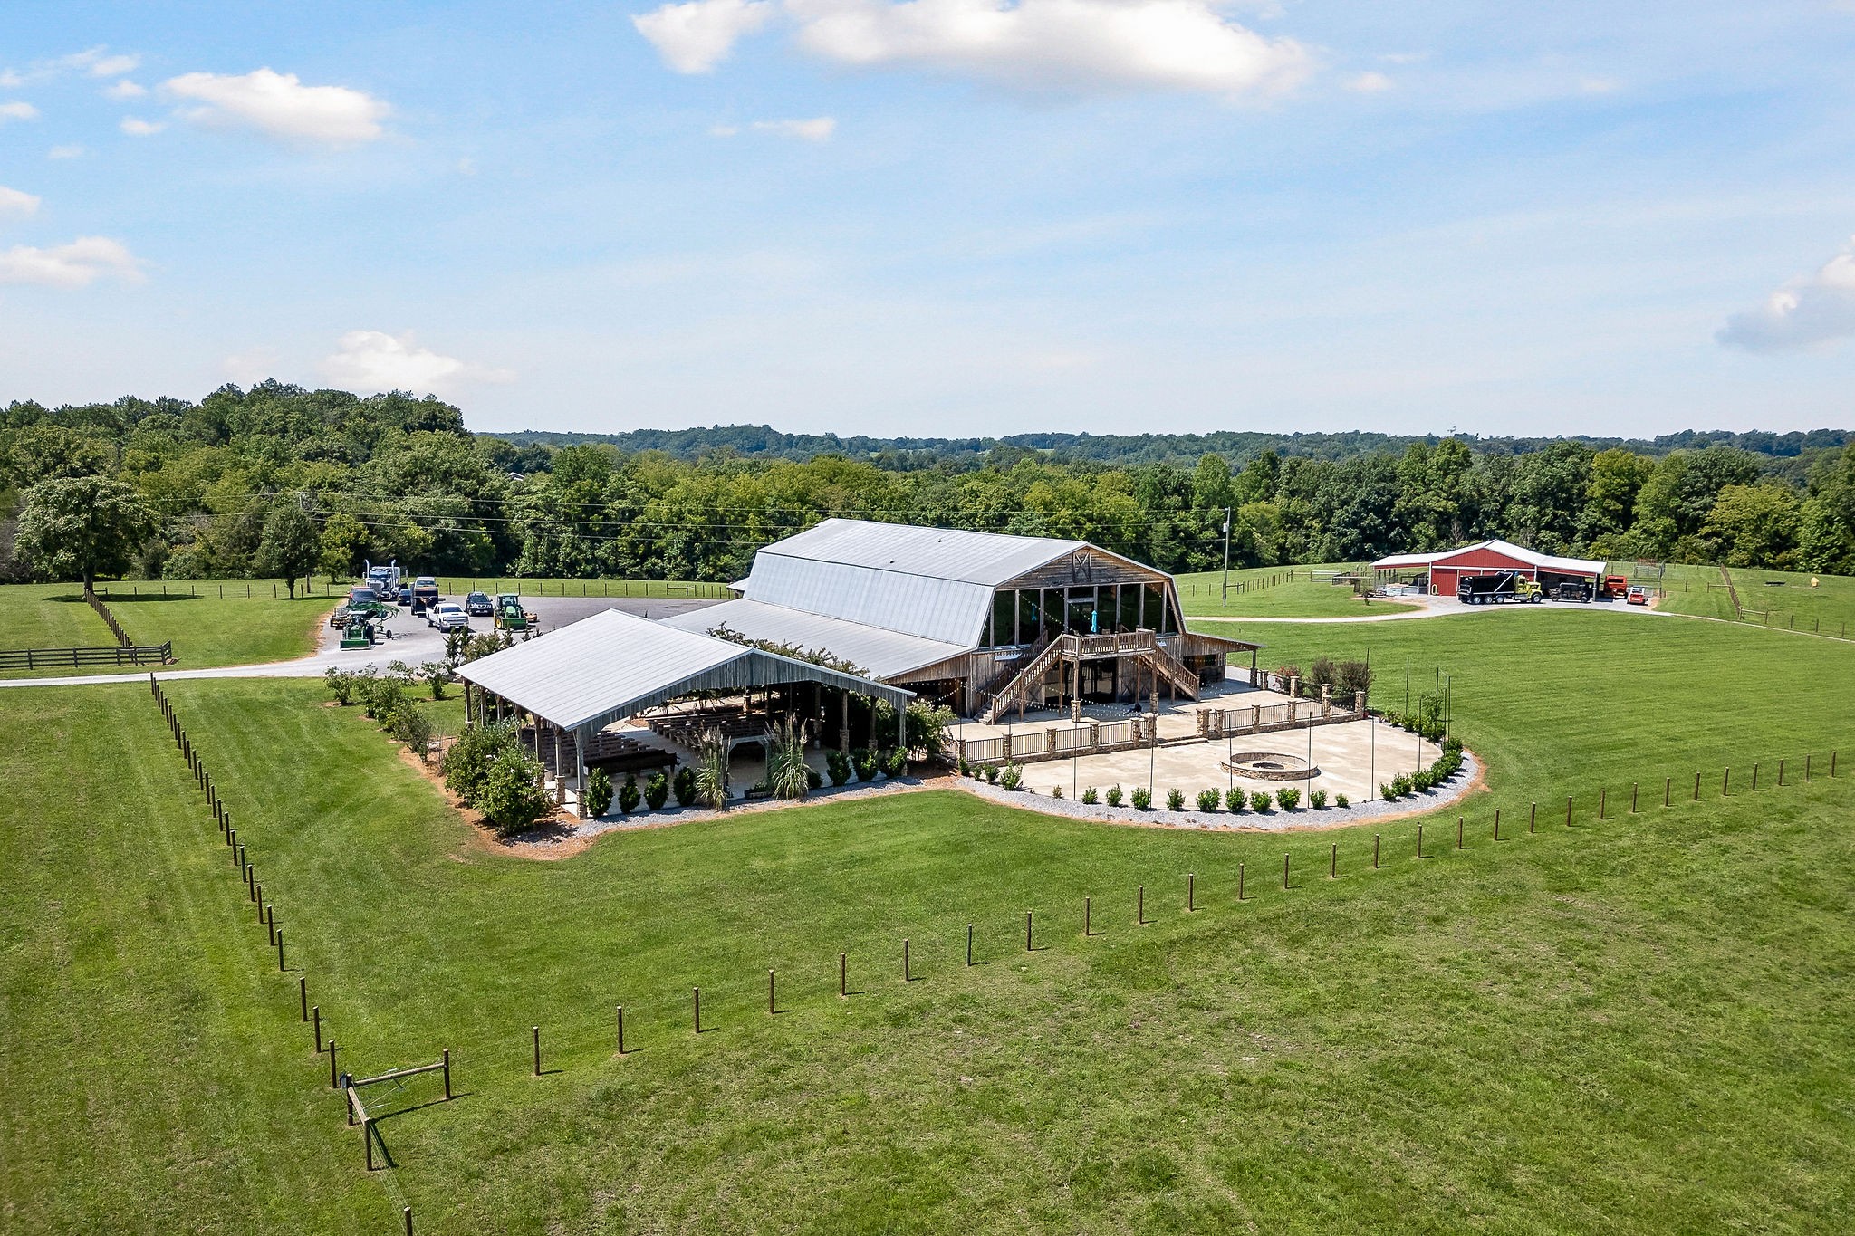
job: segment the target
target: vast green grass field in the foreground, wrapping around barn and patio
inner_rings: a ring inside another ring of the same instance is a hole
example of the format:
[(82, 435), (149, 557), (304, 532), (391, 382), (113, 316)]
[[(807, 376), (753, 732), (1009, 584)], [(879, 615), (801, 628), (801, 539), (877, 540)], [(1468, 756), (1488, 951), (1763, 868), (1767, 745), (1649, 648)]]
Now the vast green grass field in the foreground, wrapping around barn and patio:
[[(373, 1179), (147, 693), (7, 697), (41, 717), (6, 758), (43, 812), (9, 819), (0, 875), (13, 1217), (384, 1232), (403, 1195), (421, 1232), (1835, 1230), (1855, 778), (1822, 762), (1855, 736), (1855, 650), (1569, 610), (1280, 630), (1304, 662), (1369, 636), (1380, 700), (1406, 652), (1452, 673), (1493, 765), (1469, 849), (1454, 812), (1204, 836), (937, 791), (542, 864), (475, 839), (313, 684), (174, 684), (343, 1067), (454, 1049), (464, 1097), (386, 1119), (401, 1166)], [(1760, 791), (1721, 802), (1720, 765), (1755, 758)], [(1621, 817), (1631, 780), (1694, 767), (1705, 802)], [(1569, 791), (1577, 826), (1529, 836), (1527, 802)], [(213, 1088), (165, 1067), (180, 1051)]]

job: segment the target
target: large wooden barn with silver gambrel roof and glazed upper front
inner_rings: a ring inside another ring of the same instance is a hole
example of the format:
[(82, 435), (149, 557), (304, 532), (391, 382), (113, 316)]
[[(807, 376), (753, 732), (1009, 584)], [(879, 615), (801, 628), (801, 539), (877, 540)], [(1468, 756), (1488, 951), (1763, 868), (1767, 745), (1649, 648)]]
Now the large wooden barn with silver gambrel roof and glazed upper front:
[(738, 599), (662, 619), (825, 652), (963, 715), (1198, 697), (1258, 645), (1185, 630), (1172, 576), (1087, 541), (827, 519), (775, 541)]

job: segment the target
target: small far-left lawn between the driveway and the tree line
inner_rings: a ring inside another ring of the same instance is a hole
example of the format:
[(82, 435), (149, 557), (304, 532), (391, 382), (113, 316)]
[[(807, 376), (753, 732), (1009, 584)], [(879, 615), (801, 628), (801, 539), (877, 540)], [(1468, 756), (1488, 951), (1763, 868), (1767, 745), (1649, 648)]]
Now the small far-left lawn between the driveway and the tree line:
[[(250, 597), (245, 595), (247, 584)], [(221, 597), (221, 587), (224, 595)], [(193, 591), (189, 591), (193, 589)], [(271, 597), (269, 580), (109, 584), (106, 604), (139, 645), (173, 641), (180, 669), (254, 665), (310, 656), (321, 624), (338, 600)], [(22, 643), (52, 639), (54, 643)], [(83, 602), (74, 584), (0, 586), (0, 647), (111, 647), (115, 636)], [(121, 673), (115, 665), (46, 673)], [(24, 673), (17, 676), (28, 676)], [(45, 676), (45, 675), (39, 675)]]

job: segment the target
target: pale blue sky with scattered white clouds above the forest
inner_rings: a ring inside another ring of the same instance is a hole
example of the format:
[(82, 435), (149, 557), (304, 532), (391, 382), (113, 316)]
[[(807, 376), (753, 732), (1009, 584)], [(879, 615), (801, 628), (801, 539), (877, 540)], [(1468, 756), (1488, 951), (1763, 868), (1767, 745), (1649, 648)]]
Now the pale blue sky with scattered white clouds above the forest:
[(1855, 423), (1855, 2), (1618, 7), (13, 0), (0, 400)]

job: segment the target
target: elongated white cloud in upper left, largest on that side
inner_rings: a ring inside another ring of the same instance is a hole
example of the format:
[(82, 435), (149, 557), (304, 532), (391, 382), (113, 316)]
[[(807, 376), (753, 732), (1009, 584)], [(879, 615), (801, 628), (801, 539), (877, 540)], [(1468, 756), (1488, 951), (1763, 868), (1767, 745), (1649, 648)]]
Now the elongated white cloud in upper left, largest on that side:
[(302, 85), (293, 72), (256, 69), (228, 76), (187, 72), (161, 83), (171, 98), (189, 100), (182, 115), (213, 128), (252, 128), (286, 143), (354, 146), (382, 137), (390, 107), (345, 85)]

